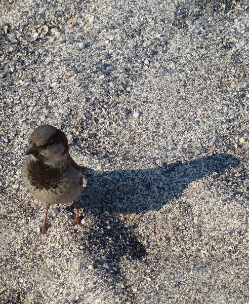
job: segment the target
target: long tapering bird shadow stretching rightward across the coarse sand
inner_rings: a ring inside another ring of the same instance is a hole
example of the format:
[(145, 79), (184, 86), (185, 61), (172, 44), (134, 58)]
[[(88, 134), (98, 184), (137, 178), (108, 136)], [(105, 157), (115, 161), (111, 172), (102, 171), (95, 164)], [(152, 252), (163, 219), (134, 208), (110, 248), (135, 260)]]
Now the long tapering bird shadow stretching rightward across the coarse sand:
[(97, 213), (146, 212), (169, 203), (193, 181), (238, 164), (234, 157), (215, 154), (145, 170), (97, 172), (84, 168), (87, 186), (81, 200)]

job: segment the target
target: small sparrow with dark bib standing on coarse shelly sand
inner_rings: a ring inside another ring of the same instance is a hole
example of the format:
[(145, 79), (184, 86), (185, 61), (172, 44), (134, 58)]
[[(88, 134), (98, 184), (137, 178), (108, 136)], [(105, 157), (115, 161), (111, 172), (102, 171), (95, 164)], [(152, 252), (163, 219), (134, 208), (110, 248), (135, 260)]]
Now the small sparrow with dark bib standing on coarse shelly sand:
[(47, 216), (51, 205), (73, 201), (74, 222), (80, 224), (76, 200), (82, 192), (83, 175), (69, 155), (66, 134), (51, 125), (37, 127), (29, 136), (21, 177), (29, 192), (45, 205), (41, 234), (48, 232)]

